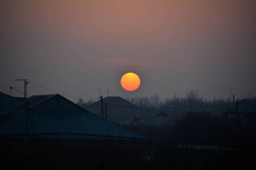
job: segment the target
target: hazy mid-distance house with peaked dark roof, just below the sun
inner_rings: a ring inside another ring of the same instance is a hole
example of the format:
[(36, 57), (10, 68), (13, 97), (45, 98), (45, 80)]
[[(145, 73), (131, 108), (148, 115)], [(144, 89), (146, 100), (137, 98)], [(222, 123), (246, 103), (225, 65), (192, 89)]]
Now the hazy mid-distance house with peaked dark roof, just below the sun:
[(102, 101), (103, 109), (101, 108), (101, 100), (88, 105), (85, 109), (100, 117), (102, 117), (103, 111), (104, 118), (115, 123), (135, 118), (142, 112), (140, 107), (122, 97), (108, 96)]

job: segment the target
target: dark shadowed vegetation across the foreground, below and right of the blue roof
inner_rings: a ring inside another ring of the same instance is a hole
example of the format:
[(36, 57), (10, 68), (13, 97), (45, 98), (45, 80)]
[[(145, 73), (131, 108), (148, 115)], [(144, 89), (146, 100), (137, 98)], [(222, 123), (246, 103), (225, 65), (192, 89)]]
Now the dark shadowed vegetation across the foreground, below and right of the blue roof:
[[(175, 124), (129, 128), (151, 142), (1, 140), (7, 169), (255, 169), (254, 129), (192, 113)], [(26, 149), (25, 149), (26, 148)]]

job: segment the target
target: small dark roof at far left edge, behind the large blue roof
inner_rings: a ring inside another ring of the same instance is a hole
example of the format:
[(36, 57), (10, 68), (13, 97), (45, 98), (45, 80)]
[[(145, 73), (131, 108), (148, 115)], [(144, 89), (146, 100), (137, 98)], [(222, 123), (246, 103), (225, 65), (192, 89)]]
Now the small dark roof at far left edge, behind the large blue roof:
[(10, 108), (13, 105), (19, 103), (20, 101), (21, 100), (17, 99), (16, 97), (6, 95), (6, 94), (0, 92), (0, 111)]

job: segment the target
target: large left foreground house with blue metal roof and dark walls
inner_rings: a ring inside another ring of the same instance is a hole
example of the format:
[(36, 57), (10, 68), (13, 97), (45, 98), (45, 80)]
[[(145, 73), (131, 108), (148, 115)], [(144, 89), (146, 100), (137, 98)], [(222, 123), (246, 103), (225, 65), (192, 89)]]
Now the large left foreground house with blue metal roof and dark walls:
[(119, 153), (122, 160), (147, 157), (150, 148), (150, 139), (58, 94), (31, 96), (0, 112), (1, 160), (14, 169), (24, 164), (31, 168), (39, 164), (42, 169), (97, 169), (120, 158)]

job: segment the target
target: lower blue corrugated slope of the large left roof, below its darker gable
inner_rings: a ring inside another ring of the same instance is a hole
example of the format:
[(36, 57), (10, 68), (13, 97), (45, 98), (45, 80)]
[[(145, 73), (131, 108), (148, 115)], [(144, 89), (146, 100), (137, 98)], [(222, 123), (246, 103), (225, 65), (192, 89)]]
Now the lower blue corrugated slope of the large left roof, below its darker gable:
[[(11, 126), (0, 125), (1, 135), (23, 137), (24, 114), (12, 119)], [(89, 112), (33, 111), (29, 121), (28, 136), (33, 138), (146, 139)]]

